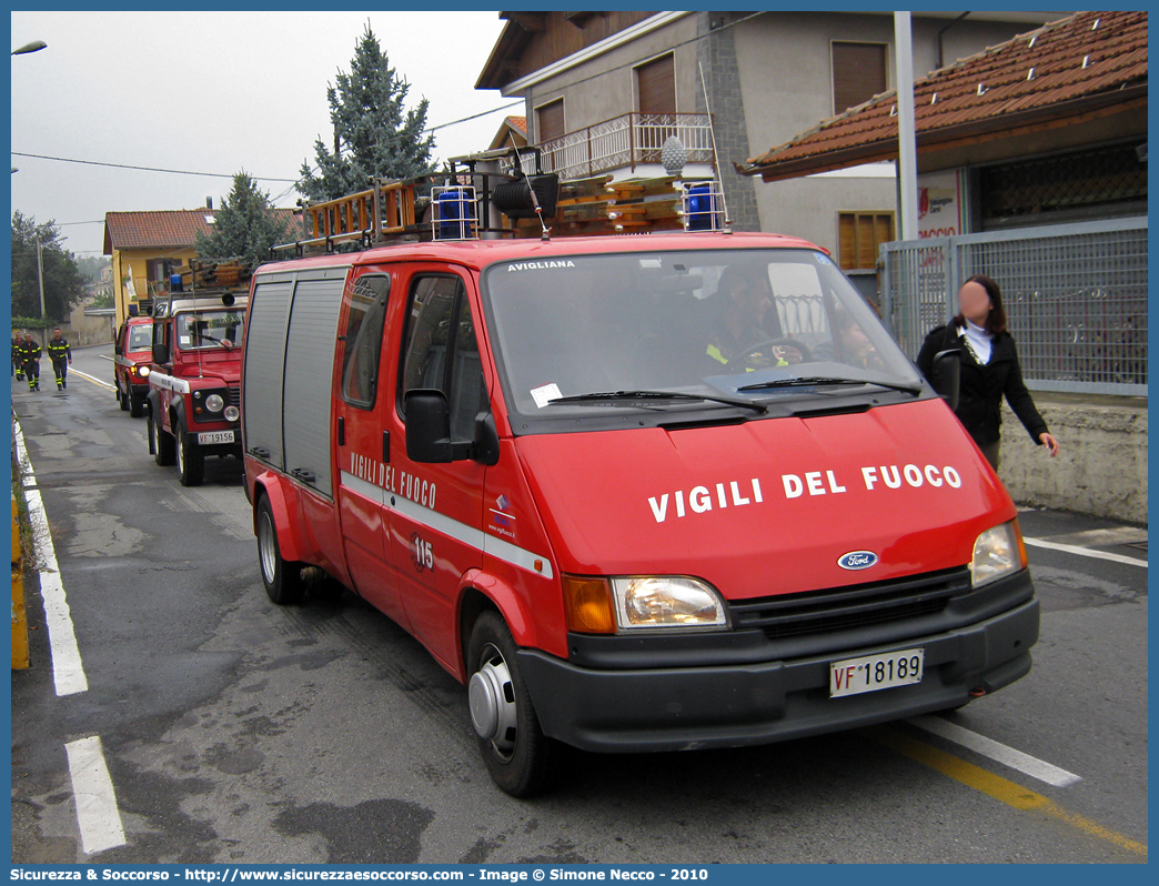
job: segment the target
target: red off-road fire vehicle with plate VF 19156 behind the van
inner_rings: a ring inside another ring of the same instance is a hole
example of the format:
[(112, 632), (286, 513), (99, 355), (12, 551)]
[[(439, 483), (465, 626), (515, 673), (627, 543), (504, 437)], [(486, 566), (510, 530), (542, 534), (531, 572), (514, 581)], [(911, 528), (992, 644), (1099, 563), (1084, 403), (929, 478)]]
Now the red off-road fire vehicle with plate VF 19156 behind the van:
[(206, 458), (241, 458), (241, 336), (249, 297), (182, 292), (178, 281), (153, 308), (148, 451), (159, 465), (176, 463), (183, 486), (201, 486)]

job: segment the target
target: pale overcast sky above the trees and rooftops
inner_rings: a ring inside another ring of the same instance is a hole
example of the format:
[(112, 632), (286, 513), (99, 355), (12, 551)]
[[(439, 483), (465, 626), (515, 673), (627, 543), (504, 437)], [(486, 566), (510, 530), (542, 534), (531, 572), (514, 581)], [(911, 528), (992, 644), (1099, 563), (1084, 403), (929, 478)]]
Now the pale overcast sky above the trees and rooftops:
[[(430, 101), (429, 125), (508, 104), (474, 83), (498, 37), (497, 12), (12, 13), (12, 150), (232, 176), (296, 179), (314, 139), (333, 143), (326, 87), (349, 72), (366, 21)], [(520, 114), (519, 108), (506, 114)], [(503, 112), (435, 133), (439, 160), (484, 150)], [(13, 157), (12, 209), (64, 225), (78, 255), (104, 247), (104, 213), (220, 205), (229, 179)], [(260, 181), (279, 206), (290, 182)], [(74, 225), (74, 221), (101, 224)]]

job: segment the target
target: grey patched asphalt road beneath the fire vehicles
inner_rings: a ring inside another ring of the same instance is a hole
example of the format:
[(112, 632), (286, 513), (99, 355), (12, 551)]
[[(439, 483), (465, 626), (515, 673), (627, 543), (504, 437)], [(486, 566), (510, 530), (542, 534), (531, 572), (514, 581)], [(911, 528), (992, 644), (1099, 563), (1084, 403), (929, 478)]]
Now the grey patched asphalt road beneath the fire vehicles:
[[(74, 370), (109, 385), (110, 353), (78, 351)], [(386, 617), (350, 594), (268, 602), (240, 462), (213, 460), (184, 489), (111, 386), (74, 372), (57, 394), (46, 380), (38, 394), (14, 383), (13, 405), (88, 689), (56, 693), (30, 578), (34, 667), (13, 673), (16, 863), (1146, 860), (1144, 529), (1023, 513), (1028, 538), (1065, 546), (1029, 547), (1034, 670), (936, 722), (576, 751), (555, 793), (519, 801), (487, 776), (465, 689)], [(93, 800), (74, 797), (66, 746), (92, 736), (124, 844), (88, 854), (79, 813)]]

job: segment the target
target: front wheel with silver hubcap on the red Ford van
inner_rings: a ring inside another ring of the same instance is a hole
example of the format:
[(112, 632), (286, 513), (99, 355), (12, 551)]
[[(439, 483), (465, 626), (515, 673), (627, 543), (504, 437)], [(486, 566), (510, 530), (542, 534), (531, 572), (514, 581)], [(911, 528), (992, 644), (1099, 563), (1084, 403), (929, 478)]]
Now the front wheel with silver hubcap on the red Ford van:
[(512, 797), (542, 793), (555, 780), (560, 746), (539, 726), (511, 631), (495, 610), (472, 627), (467, 662), (471, 721), (491, 779)]

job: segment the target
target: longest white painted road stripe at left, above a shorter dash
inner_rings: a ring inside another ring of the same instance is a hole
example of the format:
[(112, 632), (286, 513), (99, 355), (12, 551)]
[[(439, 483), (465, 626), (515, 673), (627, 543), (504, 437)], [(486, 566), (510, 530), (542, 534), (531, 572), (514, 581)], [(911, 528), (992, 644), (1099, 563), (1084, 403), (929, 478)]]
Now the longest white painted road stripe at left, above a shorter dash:
[[(20, 422), (13, 417), (17, 452), (23, 450), (21, 472), (25, 487), (36, 486), (36, 474), (32, 463), (24, 450), (24, 434)], [(31, 480), (31, 482), (29, 482)], [(44, 601), (44, 624), (49, 629), (49, 649), (52, 654), (52, 681), (58, 696), (71, 696), (88, 690), (88, 678), (85, 676), (85, 664), (76, 646), (76, 632), (73, 629), (72, 613), (68, 609), (68, 597), (60, 580), (60, 567), (57, 564), (57, 551), (52, 544), (52, 532), (49, 529), (49, 515), (44, 510), (41, 491), (25, 488), (24, 499), (28, 502), (28, 522), (32, 526), (32, 544), (36, 549), (36, 561), (39, 565), (41, 598)]]

